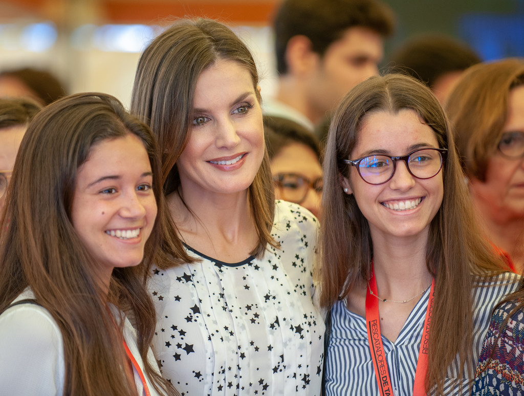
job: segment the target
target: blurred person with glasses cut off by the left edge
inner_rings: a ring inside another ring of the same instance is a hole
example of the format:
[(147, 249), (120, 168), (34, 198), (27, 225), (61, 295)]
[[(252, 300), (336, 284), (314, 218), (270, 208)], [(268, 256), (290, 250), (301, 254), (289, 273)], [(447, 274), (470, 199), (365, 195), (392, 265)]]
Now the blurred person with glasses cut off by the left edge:
[(25, 98), (0, 98), (0, 210), (15, 165), (16, 153), (40, 105)]

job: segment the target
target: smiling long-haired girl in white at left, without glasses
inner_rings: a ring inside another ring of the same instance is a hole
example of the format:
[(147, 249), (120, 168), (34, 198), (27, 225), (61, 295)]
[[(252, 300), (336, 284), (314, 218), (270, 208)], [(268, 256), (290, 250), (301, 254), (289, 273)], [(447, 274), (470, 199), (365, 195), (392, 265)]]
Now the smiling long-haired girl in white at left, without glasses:
[(113, 96), (64, 97), (32, 120), (0, 223), (2, 393), (178, 394), (150, 348), (158, 174), (149, 128)]

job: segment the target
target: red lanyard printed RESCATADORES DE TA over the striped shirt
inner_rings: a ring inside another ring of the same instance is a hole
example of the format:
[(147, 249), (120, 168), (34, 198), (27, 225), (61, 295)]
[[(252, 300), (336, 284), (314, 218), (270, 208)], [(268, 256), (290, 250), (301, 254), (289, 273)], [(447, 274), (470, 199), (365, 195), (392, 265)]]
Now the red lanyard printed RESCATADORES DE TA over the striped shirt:
[[(428, 340), (429, 328), (431, 324), (431, 311), (433, 308), (433, 291), (435, 280), (431, 281), (431, 290), (429, 293), (428, 309), (424, 320), (424, 329), (422, 331), (422, 340), (420, 343), (419, 358), (417, 361), (417, 369), (415, 371), (415, 382), (413, 384), (413, 396), (425, 396), (424, 380), (425, 374), (428, 370)], [(371, 279), (369, 279), (369, 288), (375, 294), (377, 292), (377, 281), (375, 280), (375, 270), (371, 267)], [(391, 388), (391, 380), (389, 379), (388, 364), (386, 361), (386, 353), (382, 345), (382, 337), (380, 335), (380, 316), (378, 314), (378, 299), (366, 291), (366, 322), (367, 322), (367, 339), (369, 342), (369, 349), (371, 351), (371, 358), (373, 359), (373, 366), (375, 367), (375, 375), (377, 376), (378, 390), (380, 395), (388, 396), (393, 394)]]

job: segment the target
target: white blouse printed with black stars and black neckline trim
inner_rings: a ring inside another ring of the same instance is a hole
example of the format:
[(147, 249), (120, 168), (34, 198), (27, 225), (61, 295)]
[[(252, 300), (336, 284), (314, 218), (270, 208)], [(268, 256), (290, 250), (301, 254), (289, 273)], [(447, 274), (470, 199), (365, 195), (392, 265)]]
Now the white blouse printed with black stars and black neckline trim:
[(318, 221), (277, 201), (263, 259), (201, 259), (154, 270), (159, 317), (153, 348), (163, 377), (184, 396), (319, 395), (324, 322), (312, 303)]

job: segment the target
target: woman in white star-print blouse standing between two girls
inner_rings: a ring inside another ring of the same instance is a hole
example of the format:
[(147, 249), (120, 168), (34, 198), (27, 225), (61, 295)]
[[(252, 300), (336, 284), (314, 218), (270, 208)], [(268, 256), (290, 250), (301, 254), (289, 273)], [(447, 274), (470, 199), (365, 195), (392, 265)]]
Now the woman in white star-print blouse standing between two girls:
[(161, 221), (181, 240), (149, 280), (154, 350), (186, 396), (321, 392), (318, 222), (274, 200), (259, 91), (249, 50), (212, 20), (179, 21), (138, 63), (131, 108), (158, 137)]

